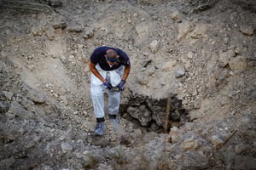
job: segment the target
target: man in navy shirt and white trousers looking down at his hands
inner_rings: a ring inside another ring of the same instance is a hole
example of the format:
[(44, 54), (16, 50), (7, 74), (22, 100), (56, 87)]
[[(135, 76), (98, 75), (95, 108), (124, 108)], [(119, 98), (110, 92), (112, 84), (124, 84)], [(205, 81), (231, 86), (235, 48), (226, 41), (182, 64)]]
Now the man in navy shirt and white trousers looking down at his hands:
[(96, 116), (96, 135), (106, 131), (104, 113), (104, 93), (108, 93), (108, 116), (114, 130), (119, 127), (120, 91), (124, 90), (131, 70), (130, 59), (119, 48), (99, 47), (90, 55), (90, 93)]

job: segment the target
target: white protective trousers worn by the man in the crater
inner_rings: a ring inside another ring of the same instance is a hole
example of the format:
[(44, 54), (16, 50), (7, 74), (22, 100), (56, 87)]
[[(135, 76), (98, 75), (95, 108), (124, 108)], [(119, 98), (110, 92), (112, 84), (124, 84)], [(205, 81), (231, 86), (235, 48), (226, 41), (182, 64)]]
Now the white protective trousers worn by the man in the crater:
[[(121, 81), (124, 74), (124, 66), (113, 71), (103, 71), (99, 65), (96, 65), (97, 71), (112, 84), (113, 87), (117, 86)], [(108, 114), (118, 115), (120, 104), (120, 92), (113, 92), (104, 87), (102, 81), (100, 81), (94, 74), (90, 75), (90, 94), (94, 108), (94, 114), (96, 118), (102, 118), (105, 116), (104, 112), (104, 93), (108, 93)]]

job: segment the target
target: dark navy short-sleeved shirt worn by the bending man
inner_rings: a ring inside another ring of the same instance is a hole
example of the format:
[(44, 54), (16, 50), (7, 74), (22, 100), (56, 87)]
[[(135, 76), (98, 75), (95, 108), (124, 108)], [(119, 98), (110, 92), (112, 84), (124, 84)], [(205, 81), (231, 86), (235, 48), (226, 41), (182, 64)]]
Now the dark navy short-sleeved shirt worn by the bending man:
[[(112, 67), (108, 65), (105, 55), (108, 49), (113, 49), (118, 55), (119, 59)], [(119, 48), (110, 48), (108, 46), (102, 46), (96, 48), (93, 53), (90, 55), (90, 61), (93, 64), (99, 64), (102, 70), (104, 71), (113, 71), (118, 69), (121, 65), (130, 65), (130, 59), (125, 52)]]

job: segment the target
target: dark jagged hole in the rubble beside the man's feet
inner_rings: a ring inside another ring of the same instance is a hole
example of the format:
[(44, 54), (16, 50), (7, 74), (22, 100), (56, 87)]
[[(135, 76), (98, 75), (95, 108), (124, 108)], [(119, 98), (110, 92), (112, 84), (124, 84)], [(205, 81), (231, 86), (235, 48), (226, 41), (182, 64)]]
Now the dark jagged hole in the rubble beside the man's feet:
[[(166, 117), (168, 117), (167, 129), (190, 122), (189, 112), (183, 108), (182, 100), (177, 99), (175, 94), (171, 94), (169, 111), (166, 111), (167, 99), (152, 99), (146, 95), (131, 95), (128, 101), (120, 105), (120, 116), (148, 132), (163, 133)], [(168, 116), (166, 116), (166, 112)]]

